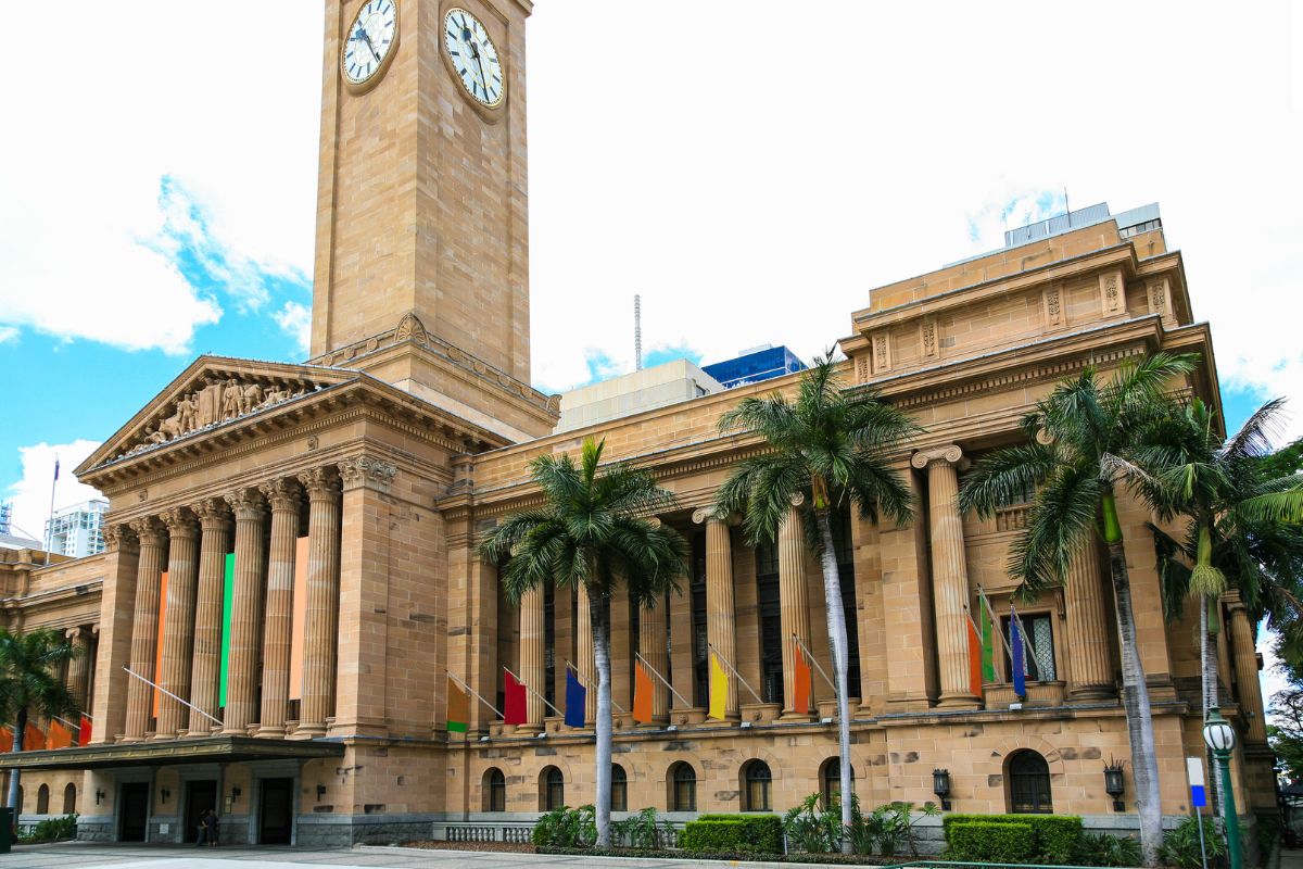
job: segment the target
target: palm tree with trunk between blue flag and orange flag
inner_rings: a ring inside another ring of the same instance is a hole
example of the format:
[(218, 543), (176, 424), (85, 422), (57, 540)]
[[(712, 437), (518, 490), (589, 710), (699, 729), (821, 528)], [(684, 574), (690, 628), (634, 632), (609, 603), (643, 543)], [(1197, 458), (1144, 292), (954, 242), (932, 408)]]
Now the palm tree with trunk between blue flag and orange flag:
[(568, 456), (530, 461), (543, 504), (507, 516), (480, 543), (481, 556), (504, 563), (502, 584), (513, 603), (555, 584), (588, 591), (597, 664), (597, 846), (611, 844), (611, 594), (620, 582), (629, 599), (652, 608), (678, 589), (687, 571), (683, 537), (655, 513), (674, 495), (646, 470), (625, 464), (598, 473), (605, 440), (584, 442), (580, 464)]

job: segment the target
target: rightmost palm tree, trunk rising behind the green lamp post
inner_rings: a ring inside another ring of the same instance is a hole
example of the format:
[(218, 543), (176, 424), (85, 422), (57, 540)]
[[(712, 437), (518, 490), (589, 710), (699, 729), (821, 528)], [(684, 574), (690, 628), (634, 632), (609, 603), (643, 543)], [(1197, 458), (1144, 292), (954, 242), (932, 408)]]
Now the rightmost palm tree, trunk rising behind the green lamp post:
[[(1169, 620), (1181, 616), (1188, 595), (1200, 599), (1205, 717), (1220, 705), (1213, 637), (1221, 629), (1220, 598), (1227, 588), (1240, 591), (1257, 616), (1255, 623), (1269, 614), (1273, 627), (1285, 636), (1300, 631), (1295, 588), (1303, 563), (1303, 534), (1296, 525), (1264, 517), (1264, 512), (1287, 512), (1289, 499), (1303, 479), (1290, 469), (1267, 476), (1274, 470), (1267, 459), (1283, 404), (1283, 399), (1268, 401), (1224, 440), (1213, 412), (1194, 399), (1156, 420), (1141, 435), (1149, 443), (1135, 453), (1136, 463), (1149, 473), (1141, 486), (1160, 519), (1184, 519), (1183, 541), (1153, 525), (1151, 530)], [(1225, 786), (1217, 767), (1217, 787)]]

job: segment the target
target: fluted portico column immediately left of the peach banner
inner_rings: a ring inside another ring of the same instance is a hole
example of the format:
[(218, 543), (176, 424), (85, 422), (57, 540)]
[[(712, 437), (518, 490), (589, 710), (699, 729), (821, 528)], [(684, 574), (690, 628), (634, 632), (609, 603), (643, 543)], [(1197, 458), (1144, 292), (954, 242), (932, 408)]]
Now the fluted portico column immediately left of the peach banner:
[(267, 555), (267, 615), (262, 640), (262, 714), (258, 736), (285, 735), (289, 705), (289, 640), (294, 618), (294, 546), (298, 541), (298, 483), (275, 479), (258, 487), (271, 504)]

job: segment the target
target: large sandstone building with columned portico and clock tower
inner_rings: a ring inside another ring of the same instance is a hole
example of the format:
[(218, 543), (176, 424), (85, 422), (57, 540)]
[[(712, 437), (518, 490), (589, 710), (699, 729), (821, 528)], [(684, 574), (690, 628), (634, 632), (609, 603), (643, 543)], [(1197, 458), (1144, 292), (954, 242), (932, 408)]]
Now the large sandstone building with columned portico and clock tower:
[[(674, 685), (658, 688), (653, 726), (618, 717), (616, 808), (783, 810), (835, 778), (826, 685), (818, 714), (792, 702), (790, 638), (829, 661), (818, 565), (791, 522), (753, 548), (706, 511), (754, 449), (721, 436), (719, 414), (800, 375), (562, 434), (558, 396), (529, 386), (529, 12), (326, 3), (313, 358), (199, 357), (77, 469), (111, 502), (106, 552), (42, 567), (0, 551), (5, 623), (86, 649), (68, 679), (94, 717), (89, 745), (0, 757), (23, 769), (25, 817), (76, 808), (83, 838), (169, 842), (212, 806), (229, 840), (318, 844), (592, 799), (590, 726), (566, 727), (532, 696), (524, 727), (476, 704), (468, 732), (448, 734), (444, 692), (448, 671), (493, 701), (507, 666), (552, 700), (567, 662), (593, 672), (582, 595), (538, 591), (515, 608), (476, 554), (498, 517), (536, 503), (529, 460), (585, 436), (678, 494), (661, 520), (693, 552), (665, 606), (614, 606), (615, 702), (631, 707), (635, 651)], [(917, 521), (850, 522), (838, 548), (865, 805), (936, 799), (946, 770), (955, 810), (1131, 821), (1130, 766), (1123, 810), (1104, 790), (1104, 765), (1130, 749), (1101, 552), (1084, 548), (1066, 588), (1023, 608), (1040, 658), (1027, 701), (1007, 664), (976, 697), (966, 606), (982, 589), (1007, 614), (1005, 554), (1027, 506), (981, 521), (954, 494), (972, 456), (1014, 440), (1029, 405), (1087, 363), (1199, 352), (1187, 387), (1220, 408), (1209, 328), (1148, 215), (1024, 228), (876, 288), (851, 314), (851, 388), (873, 384), (926, 427), (896, 456)], [(1126, 502), (1122, 519), (1164, 812), (1179, 816), (1184, 757), (1203, 756), (1197, 618), (1164, 621), (1149, 515)], [(1240, 806), (1270, 809), (1255, 628), (1234, 595), (1224, 607), (1234, 786)], [(749, 685), (734, 685), (724, 722), (705, 715), (708, 644)]]

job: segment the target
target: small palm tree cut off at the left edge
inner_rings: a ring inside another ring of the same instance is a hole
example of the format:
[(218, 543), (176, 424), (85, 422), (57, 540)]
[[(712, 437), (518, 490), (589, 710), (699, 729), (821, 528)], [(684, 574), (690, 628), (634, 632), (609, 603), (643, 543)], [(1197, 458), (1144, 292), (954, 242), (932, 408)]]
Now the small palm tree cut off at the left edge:
[[(0, 628), (0, 720), (14, 723), (13, 750), (22, 750), (31, 714), (52, 718), (77, 713), (77, 701), (59, 676), (76, 654), (73, 644), (57, 631), (10, 633)], [(8, 805), (18, 805), (21, 773), (17, 767), (9, 771)]]

